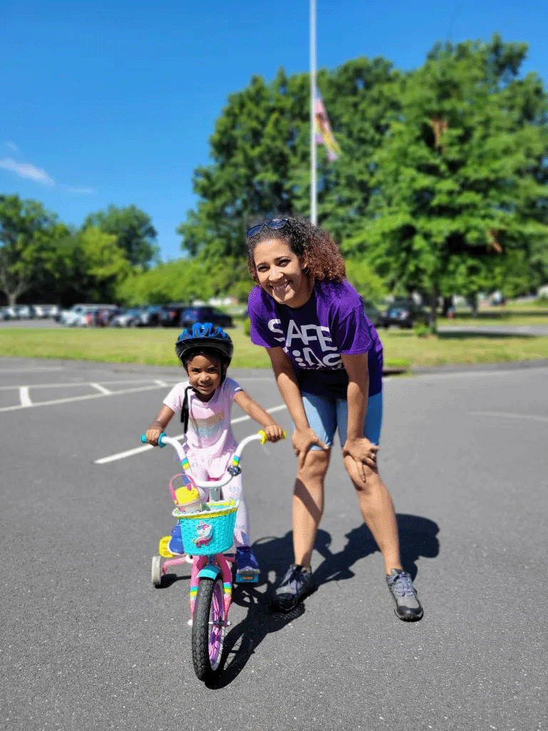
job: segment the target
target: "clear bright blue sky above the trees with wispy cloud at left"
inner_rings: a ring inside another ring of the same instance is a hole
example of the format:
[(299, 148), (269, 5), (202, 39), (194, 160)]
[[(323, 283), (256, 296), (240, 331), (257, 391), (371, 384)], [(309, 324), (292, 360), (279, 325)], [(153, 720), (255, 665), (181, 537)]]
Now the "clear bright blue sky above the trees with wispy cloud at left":
[[(227, 97), (251, 75), (309, 70), (308, 0), (0, 0), (0, 193), (67, 224), (110, 203), (151, 216), (164, 260), (196, 205), (192, 175)], [(527, 42), (548, 86), (546, 3), (316, 0), (318, 67), (438, 40)], [(328, 110), (329, 111), (329, 110)]]

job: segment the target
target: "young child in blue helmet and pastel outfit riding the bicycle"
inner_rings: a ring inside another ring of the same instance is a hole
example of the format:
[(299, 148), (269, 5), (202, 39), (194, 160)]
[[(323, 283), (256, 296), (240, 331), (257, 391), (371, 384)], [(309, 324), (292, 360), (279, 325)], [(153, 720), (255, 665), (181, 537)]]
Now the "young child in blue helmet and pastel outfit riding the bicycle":
[[(269, 442), (283, 438), (283, 429), (270, 414), (235, 381), (226, 377), (234, 346), (221, 327), (213, 327), (207, 322), (183, 330), (175, 344), (175, 352), (189, 380), (178, 383), (164, 399), (164, 406), (147, 429), (149, 444), (156, 446), (173, 415), (181, 412), (191, 469), (198, 480), (206, 482), (224, 476), (236, 450), (237, 442), (230, 426), (233, 401), (262, 426)], [(241, 475), (233, 477), (222, 491), (224, 499), (240, 500), (234, 531), (237, 570), (258, 574), (259, 564), (249, 539), (249, 516)], [(204, 502), (208, 499), (206, 492), (200, 490)], [(172, 531), (169, 550), (170, 553), (183, 553), (178, 525)]]

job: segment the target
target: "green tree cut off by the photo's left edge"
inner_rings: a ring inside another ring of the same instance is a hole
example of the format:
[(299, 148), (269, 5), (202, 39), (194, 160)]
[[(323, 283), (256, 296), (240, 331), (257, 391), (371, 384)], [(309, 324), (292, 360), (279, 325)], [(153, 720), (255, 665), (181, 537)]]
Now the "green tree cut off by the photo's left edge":
[(67, 235), (66, 225), (42, 203), (0, 196), (0, 291), (9, 304), (55, 279), (58, 246)]

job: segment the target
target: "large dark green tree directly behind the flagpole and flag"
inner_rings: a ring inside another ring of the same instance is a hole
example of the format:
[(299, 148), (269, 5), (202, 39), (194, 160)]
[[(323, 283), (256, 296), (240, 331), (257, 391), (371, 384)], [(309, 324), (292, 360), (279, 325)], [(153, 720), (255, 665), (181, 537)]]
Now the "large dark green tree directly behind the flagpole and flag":
[[(319, 72), (319, 88), (343, 155), (333, 164), (319, 148), (319, 223), (342, 238), (365, 216), (371, 160), (397, 108), (399, 77), (389, 61), (357, 58)], [(246, 255), (246, 229), (273, 213), (310, 209), (310, 80), (281, 69), (272, 83), (252, 77), (229, 96), (210, 137), (213, 163), (194, 173), (197, 208), (178, 233), (182, 248), (205, 260)]]

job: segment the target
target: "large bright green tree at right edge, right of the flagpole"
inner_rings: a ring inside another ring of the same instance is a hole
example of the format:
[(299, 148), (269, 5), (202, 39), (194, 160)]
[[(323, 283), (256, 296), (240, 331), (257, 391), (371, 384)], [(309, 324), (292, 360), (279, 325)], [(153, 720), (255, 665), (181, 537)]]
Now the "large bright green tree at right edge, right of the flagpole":
[[(346, 241), (391, 287), (430, 295), (493, 289), (500, 257), (541, 246), (546, 94), (518, 80), (524, 44), (438, 45), (402, 81), (401, 110), (376, 155), (370, 221)], [(534, 103), (533, 103), (534, 99)]]

